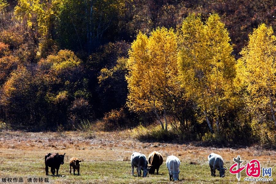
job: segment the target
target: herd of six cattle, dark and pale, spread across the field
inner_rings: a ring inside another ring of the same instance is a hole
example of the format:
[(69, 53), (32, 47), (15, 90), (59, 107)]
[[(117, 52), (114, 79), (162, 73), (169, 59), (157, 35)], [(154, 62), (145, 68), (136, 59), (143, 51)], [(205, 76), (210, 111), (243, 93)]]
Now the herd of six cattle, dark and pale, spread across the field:
[[(49, 174), (48, 167), (51, 167), (51, 172), (55, 176), (55, 170), (56, 175), (58, 175), (59, 167), (64, 163), (64, 155), (59, 155), (59, 153), (48, 153), (45, 155), (45, 171), (46, 175)], [(146, 177), (147, 174), (158, 174), (159, 167), (163, 163), (163, 156), (159, 151), (153, 151), (151, 154), (148, 155), (148, 159), (146, 156), (142, 153), (134, 152), (131, 155), (131, 167), (132, 167), (132, 175), (134, 175), (134, 167), (136, 167), (138, 176), (141, 176), (141, 170), (143, 171), (143, 177)], [(79, 167), (80, 162), (76, 157), (72, 157), (69, 161), (69, 167), (70, 167), (70, 174), (71, 174), (71, 168), (73, 168), (73, 173), (75, 175), (75, 171), (78, 171), (79, 175)], [(223, 167), (223, 159), (220, 155), (211, 153), (208, 156), (208, 162), (211, 169), (211, 175), (215, 176), (216, 170), (220, 171), (220, 177), (225, 176), (225, 171), (227, 168)], [(148, 166), (149, 164), (149, 166)], [(168, 156), (166, 160), (166, 166), (169, 171), (170, 181), (173, 179), (174, 181), (179, 180), (179, 166), (180, 166), (180, 160), (176, 156)]]

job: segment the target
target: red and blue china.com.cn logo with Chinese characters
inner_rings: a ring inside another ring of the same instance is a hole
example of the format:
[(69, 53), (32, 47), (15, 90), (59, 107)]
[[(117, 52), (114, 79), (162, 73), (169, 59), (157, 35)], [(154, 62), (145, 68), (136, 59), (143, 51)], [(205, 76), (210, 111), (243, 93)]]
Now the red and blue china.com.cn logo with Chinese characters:
[[(230, 167), (230, 173), (236, 174), (238, 181), (240, 181), (240, 172), (246, 169), (246, 174), (248, 177), (244, 178), (244, 181), (273, 181), (273, 178), (270, 178), (272, 175), (272, 168), (262, 168), (263, 177), (268, 176), (269, 178), (259, 178), (261, 175), (261, 164), (259, 160), (253, 159), (245, 165), (241, 166), (243, 160), (240, 160), (240, 155), (237, 158), (233, 158), (235, 164)], [(236, 170), (234, 170), (236, 168)], [(251, 178), (252, 177), (252, 178)]]

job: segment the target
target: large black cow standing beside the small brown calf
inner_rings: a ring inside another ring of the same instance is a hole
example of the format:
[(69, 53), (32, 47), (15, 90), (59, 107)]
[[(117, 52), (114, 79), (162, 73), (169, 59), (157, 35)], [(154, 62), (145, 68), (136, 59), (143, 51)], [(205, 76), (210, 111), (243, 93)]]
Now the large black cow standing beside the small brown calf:
[(48, 153), (45, 155), (45, 171), (46, 175), (49, 174), (48, 167), (51, 167), (51, 172), (55, 176), (55, 169), (56, 169), (56, 176), (59, 174), (59, 166), (60, 164), (64, 163), (64, 155), (59, 155), (59, 153)]

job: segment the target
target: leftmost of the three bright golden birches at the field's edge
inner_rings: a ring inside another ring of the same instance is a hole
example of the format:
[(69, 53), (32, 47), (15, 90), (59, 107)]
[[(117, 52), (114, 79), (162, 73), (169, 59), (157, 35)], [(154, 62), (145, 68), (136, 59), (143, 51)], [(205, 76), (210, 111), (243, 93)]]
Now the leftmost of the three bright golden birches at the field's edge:
[(153, 111), (167, 131), (168, 99), (177, 85), (178, 73), (177, 36), (173, 29), (157, 28), (149, 37), (139, 33), (129, 50), (127, 66), (128, 107), (138, 112)]

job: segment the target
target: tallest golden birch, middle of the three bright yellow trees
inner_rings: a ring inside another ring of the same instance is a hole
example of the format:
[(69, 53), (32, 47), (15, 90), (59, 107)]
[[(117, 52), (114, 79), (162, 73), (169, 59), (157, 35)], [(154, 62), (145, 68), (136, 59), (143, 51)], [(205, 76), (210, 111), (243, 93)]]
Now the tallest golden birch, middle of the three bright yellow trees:
[(228, 31), (218, 14), (210, 15), (205, 24), (200, 16), (191, 14), (182, 23), (179, 40), (182, 85), (204, 113), (210, 131), (214, 132), (209, 120), (212, 114), (219, 132), (219, 119), (232, 103), (236, 76)]

